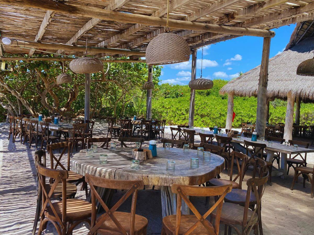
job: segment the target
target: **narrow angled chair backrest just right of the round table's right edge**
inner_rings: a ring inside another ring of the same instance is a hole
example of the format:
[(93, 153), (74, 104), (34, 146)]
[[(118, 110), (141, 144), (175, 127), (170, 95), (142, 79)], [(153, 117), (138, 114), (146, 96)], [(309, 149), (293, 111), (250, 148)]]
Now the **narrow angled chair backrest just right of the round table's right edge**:
[[(248, 157), (246, 154), (242, 154), (236, 151), (231, 152), (230, 180), (236, 182), (236, 180), (239, 179), (239, 189), (242, 189), (242, 180), (243, 180), (244, 168), (246, 166), (247, 159)], [(241, 166), (240, 166), (240, 162), (241, 162)], [(236, 163), (238, 173), (233, 178), (233, 167), (235, 163)]]

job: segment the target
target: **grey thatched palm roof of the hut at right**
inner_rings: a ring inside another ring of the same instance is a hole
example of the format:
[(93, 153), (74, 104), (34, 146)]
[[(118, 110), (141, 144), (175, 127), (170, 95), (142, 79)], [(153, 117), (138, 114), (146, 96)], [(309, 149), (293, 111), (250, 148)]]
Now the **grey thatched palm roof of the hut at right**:
[[(314, 37), (303, 39), (295, 46), (269, 60), (267, 96), (286, 98), (288, 92), (302, 99), (314, 100), (314, 77), (296, 75), (298, 65), (313, 58)], [(221, 94), (234, 92), (236, 96), (256, 96), (260, 65), (228, 82)]]

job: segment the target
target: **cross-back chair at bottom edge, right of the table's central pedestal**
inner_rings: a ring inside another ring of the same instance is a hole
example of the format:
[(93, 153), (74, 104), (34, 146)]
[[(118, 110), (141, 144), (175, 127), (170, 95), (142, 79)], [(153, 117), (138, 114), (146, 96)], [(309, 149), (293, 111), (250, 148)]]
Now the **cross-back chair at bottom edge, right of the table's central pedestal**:
[[(219, 234), (220, 212), (225, 195), (230, 192), (232, 185), (222, 185), (214, 187), (198, 187), (190, 185), (173, 184), (171, 191), (177, 194), (176, 215), (166, 216), (162, 220), (161, 234)], [(202, 216), (193, 206), (188, 196), (219, 196), (215, 204)], [(187, 204), (194, 215), (181, 215), (181, 203)], [(217, 210), (217, 220), (214, 224), (206, 218)], [(214, 226), (213, 226), (214, 225)]]

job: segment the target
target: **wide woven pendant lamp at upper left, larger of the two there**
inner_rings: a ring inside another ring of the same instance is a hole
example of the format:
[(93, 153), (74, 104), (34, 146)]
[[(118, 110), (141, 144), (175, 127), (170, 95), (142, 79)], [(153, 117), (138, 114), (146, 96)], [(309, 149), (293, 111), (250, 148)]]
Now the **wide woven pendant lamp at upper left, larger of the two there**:
[(103, 71), (104, 65), (99, 59), (87, 57), (87, 35), (86, 35), (86, 52), (84, 57), (72, 60), (70, 62), (69, 67), (74, 73), (78, 74), (97, 73), (99, 71)]

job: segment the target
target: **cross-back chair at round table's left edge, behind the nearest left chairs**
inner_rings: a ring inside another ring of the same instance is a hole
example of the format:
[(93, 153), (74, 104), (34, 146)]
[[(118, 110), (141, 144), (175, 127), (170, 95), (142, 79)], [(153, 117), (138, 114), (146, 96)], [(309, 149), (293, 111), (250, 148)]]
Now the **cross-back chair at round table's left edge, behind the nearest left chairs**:
[[(60, 154), (60, 156), (57, 158), (54, 154), (53, 151), (56, 149), (62, 149), (62, 152)], [(87, 184), (85, 182), (84, 176), (83, 175), (79, 175), (77, 173), (74, 173), (72, 170), (70, 170), (70, 150), (71, 150), (71, 142), (69, 141), (65, 141), (65, 142), (61, 142), (61, 143), (56, 143), (56, 144), (49, 144), (47, 146), (47, 149), (49, 151), (50, 154), (50, 167), (51, 169), (57, 170), (58, 167), (60, 167), (62, 170), (66, 170), (68, 172), (68, 178), (67, 178), (67, 183), (75, 183), (75, 185), (77, 186), (78, 184), (82, 183), (82, 189), (85, 189), (85, 196), (87, 198), (87, 194), (88, 194), (88, 189), (87, 189)], [(64, 164), (62, 164), (61, 159), (62, 156), (65, 154), (65, 152), (68, 152), (68, 156), (67, 156), (67, 165), (65, 166)], [(56, 164), (54, 163), (54, 161), (56, 162)], [(52, 182), (53, 179), (50, 180), (50, 182)]]

